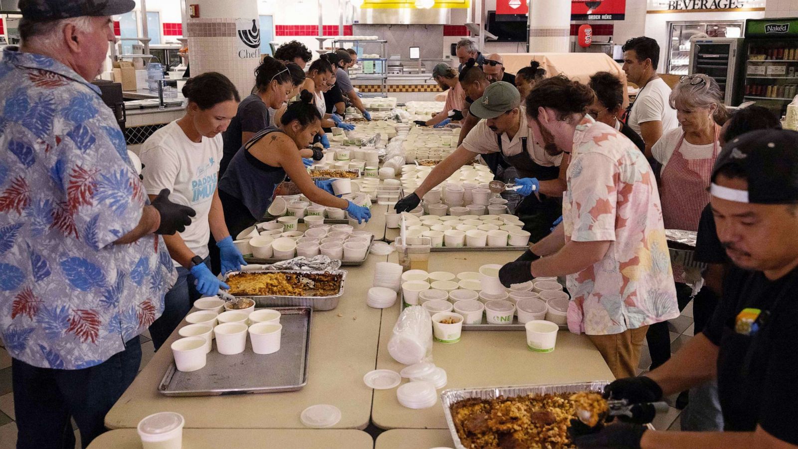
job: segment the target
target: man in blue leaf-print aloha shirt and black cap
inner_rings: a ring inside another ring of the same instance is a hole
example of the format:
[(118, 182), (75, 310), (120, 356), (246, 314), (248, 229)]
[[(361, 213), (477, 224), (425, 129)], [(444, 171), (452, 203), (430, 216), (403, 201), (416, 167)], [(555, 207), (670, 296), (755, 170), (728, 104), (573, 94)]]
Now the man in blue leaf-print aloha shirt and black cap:
[(148, 205), (100, 90), (112, 14), (132, 0), (22, 0), (0, 62), (0, 336), (17, 447), (86, 447), (136, 376), (139, 334), (175, 272), (164, 240), (193, 211)]

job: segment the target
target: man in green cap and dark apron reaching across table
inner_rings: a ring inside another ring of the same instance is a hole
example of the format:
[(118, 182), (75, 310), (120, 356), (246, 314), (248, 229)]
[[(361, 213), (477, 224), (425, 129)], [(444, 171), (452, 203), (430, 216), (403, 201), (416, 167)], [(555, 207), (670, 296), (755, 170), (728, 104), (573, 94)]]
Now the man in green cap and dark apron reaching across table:
[[(526, 197), (519, 206), (525, 217), (524, 228), (531, 238), (539, 240), (549, 232), (551, 222), (562, 212), (559, 197), (565, 189), (567, 163), (561, 165), (559, 150), (547, 153), (539, 139), (532, 137), (527, 125), (526, 110), (520, 105), (521, 96), (515, 86), (504, 81), (488, 85), (484, 95), (471, 105), (471, 113), (483, 119), (454, 153), (436, 165), (425, 181), (396, 205), (398, 212), (414, 209), (421, 197), (448, 178), (476, 154), (500, 155), (519, 177), (518, 193)], [(531, 193), (535, 195), (531, 195)]]

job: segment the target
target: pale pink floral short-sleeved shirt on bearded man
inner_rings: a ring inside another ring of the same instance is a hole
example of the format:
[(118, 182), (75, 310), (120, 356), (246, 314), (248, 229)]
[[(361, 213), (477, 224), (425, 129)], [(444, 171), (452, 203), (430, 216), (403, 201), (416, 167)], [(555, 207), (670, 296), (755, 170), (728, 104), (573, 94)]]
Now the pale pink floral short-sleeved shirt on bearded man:
[(577, 126), (563, 197), (566, 241), (609, 240), (606, 256), (567, 276), (568, 328), (611, 335), (679, 316), (657, 183), (615, 129)]

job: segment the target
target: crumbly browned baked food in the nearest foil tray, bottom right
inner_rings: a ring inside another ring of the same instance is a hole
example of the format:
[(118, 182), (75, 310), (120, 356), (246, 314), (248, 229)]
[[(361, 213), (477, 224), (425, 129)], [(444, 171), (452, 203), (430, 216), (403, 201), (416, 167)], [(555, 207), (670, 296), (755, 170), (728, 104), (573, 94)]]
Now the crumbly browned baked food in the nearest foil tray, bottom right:
[[(496, 399), (470, 398), (452, 404), (452, 420), (465, 447), (531, 449), (572, 447), (568, 436), (575, 417), (575, 391)], [(601, 399), (601, 395), (596, 395)], [(577, 395), (591, 407), (594, 396)], [(606, 401), (601, 399), (606, 407)], [(591, 408), (593, 410), (593, 408)]]

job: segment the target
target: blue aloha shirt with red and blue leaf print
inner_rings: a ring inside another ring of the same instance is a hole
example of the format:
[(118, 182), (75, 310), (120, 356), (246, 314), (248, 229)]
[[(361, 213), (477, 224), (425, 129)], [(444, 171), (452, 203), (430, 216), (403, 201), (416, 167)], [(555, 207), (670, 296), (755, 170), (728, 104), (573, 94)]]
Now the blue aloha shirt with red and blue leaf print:
[(160, 236), (113, 244), (144, 186), (100, 90), (60, 62), (0, 62), (0, 336), (40, 368), (101, 364), (144, 332), (174, 282)]

